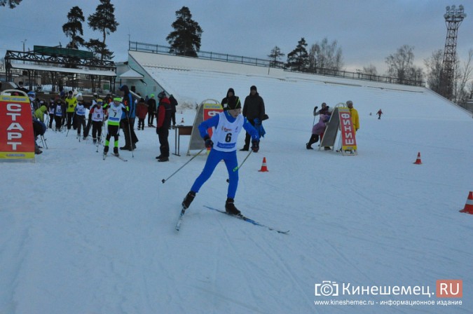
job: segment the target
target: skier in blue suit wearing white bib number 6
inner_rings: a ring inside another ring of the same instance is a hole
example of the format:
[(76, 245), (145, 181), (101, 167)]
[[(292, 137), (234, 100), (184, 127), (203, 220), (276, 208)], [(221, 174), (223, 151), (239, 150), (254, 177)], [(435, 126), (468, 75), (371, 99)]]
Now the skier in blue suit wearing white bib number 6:
[[(212, 139), (207, 129), (214, 127)], [(238, 160), (236, 143), (238, 134), (245, 129), (252, 137), (252, 151), (259, 150), (259, 135), (247, 118), (241, 114), (241, 103), (238, 96), (228, 97), (228, 102), (224, 111), (213, 116), (198, 126), (200, 136), (205, 140), (205, 147), (210, 148), (207, 162), (204, 169), (197, 177), (191, 191), (189, 191), (182, 202), (182, 208), (186, 210), (196, 197), (200, 187), (210, 178), (215, 167), (221, 160), (225, 162), (228, 171), (228, 192), (225, 203), (225, 210), (229, 214), (240, 214), (240, 210), (235, 207), (234, 198), (238, 187)]]

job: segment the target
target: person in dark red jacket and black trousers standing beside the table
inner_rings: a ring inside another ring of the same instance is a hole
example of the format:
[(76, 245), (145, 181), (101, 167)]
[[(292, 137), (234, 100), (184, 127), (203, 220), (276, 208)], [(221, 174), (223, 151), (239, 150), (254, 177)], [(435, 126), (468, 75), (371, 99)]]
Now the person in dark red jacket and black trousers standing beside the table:
[(156, 157), (159, 162), (169, 161), (169, 128), (171, 125), (172, 108), (169, 98), (164, 92), (158, 94), (158, 112), (156, 114), (156, 134), (159, 137), (160, 155)]

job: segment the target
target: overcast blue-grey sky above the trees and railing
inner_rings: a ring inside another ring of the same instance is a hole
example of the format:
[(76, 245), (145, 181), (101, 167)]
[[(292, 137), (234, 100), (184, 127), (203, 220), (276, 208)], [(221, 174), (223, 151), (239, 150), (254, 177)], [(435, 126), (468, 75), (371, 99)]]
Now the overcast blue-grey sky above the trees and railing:
[[(127, 59), (128, 39), (169, 46), (175, 12), (188, 6), (203, 29), (200, 50), (268, 59), (274, 46), (286, 56), (304, 37), (307, 49), (327, 37), (343, 51), (345, 69), (355, 71), (373, 64), (378, 74), (386, 70), (385, 57), (406, 44), (414, 46), (415, 63), (434, 50), (444, 49), (446, 6), (465, 6), (467, 18), (458, 31), (461, 61), (473, 49), (473, 3), (445, 0), (112, 0), (120, 25), (107, 45), (116, 62)], [(84, 13), (84, 39), (102, 38), (88, 28), (87, 18), (98, 0), (23, 0), (13, 10), (0, 7), (0, 57), (6, 50), (57, 46), (68, 42), (62, 32), (67, 13), (79, 6)]]

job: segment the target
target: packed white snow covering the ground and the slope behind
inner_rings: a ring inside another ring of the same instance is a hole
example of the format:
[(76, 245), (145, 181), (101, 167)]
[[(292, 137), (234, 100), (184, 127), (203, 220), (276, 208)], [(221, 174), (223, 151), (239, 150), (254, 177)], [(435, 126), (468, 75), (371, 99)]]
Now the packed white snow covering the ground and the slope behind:
[[(419, 88), (146, 69), (189, 103), (257, 86), (270, 118), (240, 169), (235, 205), (289, 234), (205, 208), (224, 207), (223, 164), (177, 233), (206, 158), (181, 168), (188, 137), (181, 156), (158, 163), (156, 129), (136, 130), (123, 162), (103, 161), (103, 147), (73, 130), (48, 130), (36, 163), (0, 163), (1, 314), (471, 313), (473, 215), (458, 212), (473, 190), (470, 114)], [(307, 150), (313, 107), (348, 99), (360, 116), (358, 155)], [(178, 107), (178, 121), (194, 116)], [(238, 151), (240, 163), (246, 156)], [(258, 171), (263, 157), (269, 172)], [(446, 279), (462, 280), (461, 298), (437, 298)]]

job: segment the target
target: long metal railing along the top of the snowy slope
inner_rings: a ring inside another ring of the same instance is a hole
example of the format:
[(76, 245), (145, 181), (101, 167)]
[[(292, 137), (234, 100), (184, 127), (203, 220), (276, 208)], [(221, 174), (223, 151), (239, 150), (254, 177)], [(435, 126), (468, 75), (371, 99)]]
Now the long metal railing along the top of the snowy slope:
[[(144, 51), (147, 53), (160, 53), (160, 54), (165, 54), (165, 55), (181, 55), (183, 57), (186, 56), (186, 55), (176, 53), (171, 47), (155, 45), (152, 43), (139, 43), (137, 41), (128, 41), (128, 50)], [(287, 68), (284, 62), (275, 61), (275, 60), (259, 59), (256, 57), (244, 57), (240, 55), (229, 55), (228, 53), (212, 53), (208, 51), (197, 51), (196, 54), (197, 54), (197, 57), (200, 59), (248, 64), (248, 65), (255, 65), (258, 67), (272, 67), (272, 68), (284, 69), (285, 71), (292, 71), (292, 72), (297, 72), (297, 73), (336, 76), (336, 77), (341, 77), (341, 78), (353, 78), (353, 79), (364, 80), (364, 81), (376, 81), (376, 82), (381, 82), (381, 83), (392, 83), (392, 84), (425, 87), (425, 82), (423, 81), (399, 80), (399, 78), (390, 77), (390, 76), (379, 76), (379, 75), (373, 75), (373, 74), (364, 74), (361, 72), (350, 72), (350, 71), (342, 71), (342, 70), (336, 70), (336, 69), (323, 69), (323, 68), (306, 69), (305, 71), (294, 71), (292, 69)]]

